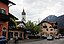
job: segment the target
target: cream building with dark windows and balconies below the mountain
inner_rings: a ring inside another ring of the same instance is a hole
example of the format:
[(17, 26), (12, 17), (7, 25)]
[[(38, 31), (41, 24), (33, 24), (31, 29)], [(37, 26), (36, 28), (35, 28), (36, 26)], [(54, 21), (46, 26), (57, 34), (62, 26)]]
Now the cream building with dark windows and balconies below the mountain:
[(55, 23), (47, 22), (47, 21), (42, 21), (41, 24), (41, 35), (44, 36), (55, 36), (58, 33), (57, 25)]

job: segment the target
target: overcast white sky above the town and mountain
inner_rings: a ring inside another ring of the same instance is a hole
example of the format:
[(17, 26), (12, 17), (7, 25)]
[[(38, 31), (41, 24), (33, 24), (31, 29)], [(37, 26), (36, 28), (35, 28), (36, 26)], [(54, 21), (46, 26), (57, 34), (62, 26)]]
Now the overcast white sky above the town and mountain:
[(26, 12), (26, 21), (41, 21), (49, 15), (64, 14), (64, 0), (10, 0), (16, 5), (9, 7), (9, 12), (22, 19), (23, 9)]

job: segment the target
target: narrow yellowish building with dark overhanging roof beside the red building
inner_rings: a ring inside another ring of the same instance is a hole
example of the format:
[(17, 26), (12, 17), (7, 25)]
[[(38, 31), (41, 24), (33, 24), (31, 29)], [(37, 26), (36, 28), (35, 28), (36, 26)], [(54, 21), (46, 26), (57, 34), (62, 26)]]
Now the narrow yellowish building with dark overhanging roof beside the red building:
[(15, 33), (17, 32), (17, 23), (16, 20), (18, 20), (18, 18), (16, 18), (15, 16), (13, 16), (11, 13), (9, 13), (9, 25), (8, 25), (8, 29), (9, 29), (9, 39), (14, 38), (15, 37)]

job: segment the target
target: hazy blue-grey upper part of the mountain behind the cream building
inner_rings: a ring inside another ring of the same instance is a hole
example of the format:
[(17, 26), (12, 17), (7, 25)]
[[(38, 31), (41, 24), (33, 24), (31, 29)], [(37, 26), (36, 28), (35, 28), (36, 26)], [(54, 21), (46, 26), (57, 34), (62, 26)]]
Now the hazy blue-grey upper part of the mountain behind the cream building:
[(64, 27), (64, 15), (61, 15), (59, 17), (57, 17), (55, 15), (49, 15), (48, 17), (46, 17), (43, 20), (44, 21), (48, 21), (48, 22), (57, 22), (58, 23), (58, 27), (61, 27), (61, 28)]

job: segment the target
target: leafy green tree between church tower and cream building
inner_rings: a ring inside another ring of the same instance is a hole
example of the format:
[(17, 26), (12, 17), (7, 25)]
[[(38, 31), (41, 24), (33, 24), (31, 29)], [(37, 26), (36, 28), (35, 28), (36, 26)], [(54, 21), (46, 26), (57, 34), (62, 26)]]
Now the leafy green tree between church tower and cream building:
[(25, 28), (28, 28), (32, 34), (38, 34), (38, 32), (41, 32), (40, 26), (34, 25), (33, 22), (28, 21), (25, 25)]

